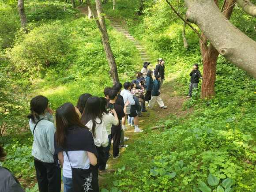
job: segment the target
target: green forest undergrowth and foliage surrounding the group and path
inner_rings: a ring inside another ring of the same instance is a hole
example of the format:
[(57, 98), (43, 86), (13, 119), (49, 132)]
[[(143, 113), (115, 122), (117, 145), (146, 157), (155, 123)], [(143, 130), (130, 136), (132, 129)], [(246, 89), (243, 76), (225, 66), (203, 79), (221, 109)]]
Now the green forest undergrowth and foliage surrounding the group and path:
[[(170, 2), (184, 16), (184, 2)], [(223, 1), (218, 2), (221, 7)], [(0, 142), (8, 152), (2, 165), (27, 191), (37, 191), (26, 119), (30, 99), (42, 94), (55, 111), (65, 102), (75, 105), (83, 93), (103, 96), (112, 80), (93, 19), (64, 0), (26, 0), (26, 31), (17, 3), (0, 3)], [(200, 99), (199, 83), (193, 97), (185, 99), (192, 65), (200, 64), (203, 72), (197, 34), (186, 27), (184, 49), (183, 21), (164, 0), (117, 0), (114, 11), (113, 1), (105, 0), (103, 9), (140, 41), (153, 65), (165, 59), (164, 89), (169, 91), (162, 94), (176, 112), (162, 115), (155, 109), (139, 121), (145, 131), (133, 136), (112, 165), (116, 173), (104, 176), (102, 192), (256, 191), (256, 80), (218, 56), (215, 97)], [(120, 83), (132, 80), (142, 68), (139, 52), (105, 21)], [(256, 41), (256, 19), (239, 5), (230, 21)], [(182, 99), (181, 108), (169, 103), (174, 97)], [(162, 127), (151, 130), (156, 125)]]

